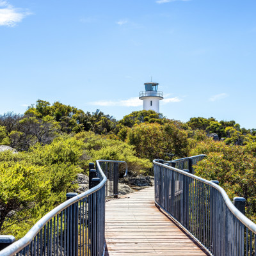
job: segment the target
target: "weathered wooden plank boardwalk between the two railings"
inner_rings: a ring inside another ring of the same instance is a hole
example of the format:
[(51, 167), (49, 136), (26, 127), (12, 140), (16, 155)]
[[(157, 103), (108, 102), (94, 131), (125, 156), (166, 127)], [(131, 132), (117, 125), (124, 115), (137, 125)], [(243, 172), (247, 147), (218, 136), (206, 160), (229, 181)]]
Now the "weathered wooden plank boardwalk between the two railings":
[(105, 255), (209, 255), (154, 204), (154, 187), (106, 203)]

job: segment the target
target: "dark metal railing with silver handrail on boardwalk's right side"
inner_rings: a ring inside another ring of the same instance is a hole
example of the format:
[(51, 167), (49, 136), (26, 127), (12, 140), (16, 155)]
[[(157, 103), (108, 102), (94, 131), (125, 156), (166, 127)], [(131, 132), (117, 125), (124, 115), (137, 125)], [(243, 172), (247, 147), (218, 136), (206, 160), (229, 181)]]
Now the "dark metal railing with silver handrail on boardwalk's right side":
[(252, 256), (256, 225), (220, 186), (154, 160), (155, 202), (212, 255)]

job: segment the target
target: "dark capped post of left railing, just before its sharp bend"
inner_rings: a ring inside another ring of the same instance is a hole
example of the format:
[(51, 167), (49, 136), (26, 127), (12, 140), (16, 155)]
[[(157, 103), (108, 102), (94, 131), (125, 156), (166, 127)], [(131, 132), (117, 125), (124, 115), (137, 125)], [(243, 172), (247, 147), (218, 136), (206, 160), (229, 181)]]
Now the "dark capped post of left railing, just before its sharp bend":
[[(92, 188), (100, 183), (99, 178), (92, 179)], [(97, 255), (97, 248), (99, 248), (99, 241), (97, 234), (99, 232), (99, 191), (90, 195), (90, 255)]]

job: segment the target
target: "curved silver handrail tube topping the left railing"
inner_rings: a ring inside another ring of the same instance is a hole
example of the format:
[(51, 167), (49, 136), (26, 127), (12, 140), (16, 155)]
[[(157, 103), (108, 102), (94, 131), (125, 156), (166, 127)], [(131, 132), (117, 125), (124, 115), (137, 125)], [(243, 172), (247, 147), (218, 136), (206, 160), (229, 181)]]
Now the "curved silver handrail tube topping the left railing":
[[(83, 206), (83, 208), (84, 208), (84, 204), (87, 204), (88, 202), (90, 202), (90, 198), (92, 198), (92, 196), (95, 193), (97, 193), (97, 191), (100, 191), (101, 188), (104, 189), (104, 186), (106, 184), (107, 177), (104, 174), (104, 172), (102, 171), (102, 168), (100, 167), (100, 162), (102, 162), (102, 161), (103, 160), (96, 161), (97, 170), (99, 171), (100, 180), (101, 180), (100, 183), (97, 186), (94, 186), (93, 188), (89, 189), (88, 191), (85, 191), (84, 193), (81, 193), (80, 195), (76, 195), (76, 196), (70, 198), (69, 200), (63, 202), (62, 204), (60, 204), (57, 207), (55, 207), (54, 209), (52, 209), (52, 211), (48, 212), (43, 218), (41, 218), (38, 222), (36, 222), (36, 224), (28, 231), (28, 233), (24, 237), (22, 237), (21, 239), (19, 239), (15, 243), (10, 244), (10, 246), (1, 250), (0, 251), (0, 256), (10, 256), (10, 255), (14, 255), (15, 253), (19, 253), (22, 250), (26, 250), (26, 246), (29, 246), (29, 244), (33, 243), (33, 239), (36, 239), (36, 236), (38, 236), (39, 232), (41, 232), (40, 235), (42, 236), (42, 228), (46, 227), (45, 225), (47, 225), (47, 223), (49, 223), (49, 221), (52, 221), (52, 219), (54, 219), (54, 225), (55, 225), (55, 218), (56, 218), (56, 216), (58, 216), (58, 214), (60, 214), (60, 212), (61, 212), (61, 220), (62, 220), (63, 211), (65, 211), (64, 218), (68, 218), (68, 215), (66, 215), (66, 214), (68, 214), (68, 212), (70, 214), (72, 214), (72, 211), (75, 209), (75, 204), (77, 204), (77, 208), (78, 208), (78, 202), (80, 202), (80, 207)], [(105, 191), (105, 189), (104, 189), (104, 191)], [(104, 191), (102, 191), (102, 193), (105, 193)], [(86, 199), (86, 200), (84, 201), (84, 199)], [(87, 199), (88, 199), (88, 202), (87, 202)], [(94, 197), (94, 200), (95, 200), (95, 197)], [(92, 198), (91, 201), (93, 201), (93, 198)], [(103, 200), (103, 201), (105, 202), (105, 200)], [(74, 205), (74, 207), (67, 211), (68, 207), (72, 207), (72, 205)], [(88, 208), (89, 208), (89, 206), (88, 206)], [(78, 216), (78, 213), (76, 213), (76, 214)], [(81, 212), (80, 212), (80, 214), (81, 214)], [(84, 214), (84, 209), (83, 209), (83, 214)], [(85, 212), (85, 214), (86, 214), (86, 212)], [(80, 215), (80, 218), (81, 218), (81, 215)], [(87, 218), (87, 216), (86, 216), (86, 218)], [(70, 219), (70, 221), (72, 222), (71, 219)], [(52, 225), (52, 223), (51, 223), (51, 225)], [(61, 225), (62, 225), (62, 223), (61, 223)], [(65, 226), (66, 228), (67, 228), (67, 225)], [(47, 232), (49, 233), (49, 226), (47, 228), (48, 228)], [(51, 228), (52, 228), (52, 226), (51, 226)], [(55, 228), (55, 226), (54, 226), (54, 228)], [(52, 232), (52, 230), (51, 230), (51, 232)], [(49, 234), (48, 234), (48, 236), (49, 236)], [(41, 239), (42, 239), (42, 237), (41, 237)], [(50, 252), (51, 252), (52, 248), (49, 249), (49, 245), (47, 245), (47, 246), (48, 246), (47, 253), (49, 254), (48, 250), (50, 250)], [(57, 246), (58, 246), (58, 244), (57, 244)], [(31, 247), (32, 247), (32, 245), (31, 245)], [(28, 250), (29, 250), (29, 248), (28, 248)], [(33, 248), (31, 250), (33, 250)], [(45, 248), (45, 250), (46, 250), (46, 248)], [(61, 250), (62, 250), (62, 248), (61, 248)], [(68, 253), (67, 253), (67, 255), (68, 255)], [(94, 255), (94, 254), (91, 253), (90, 255)]]

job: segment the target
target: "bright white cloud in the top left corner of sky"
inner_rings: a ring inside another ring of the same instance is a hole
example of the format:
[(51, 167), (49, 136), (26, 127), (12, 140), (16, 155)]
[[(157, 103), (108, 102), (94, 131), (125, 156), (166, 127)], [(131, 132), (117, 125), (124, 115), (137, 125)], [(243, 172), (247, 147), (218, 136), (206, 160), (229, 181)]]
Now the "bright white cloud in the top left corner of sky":
[(0, 26), (13, 27), (30, 14), (22, 8), (15, 8), (8, 1), (0, 0)]

